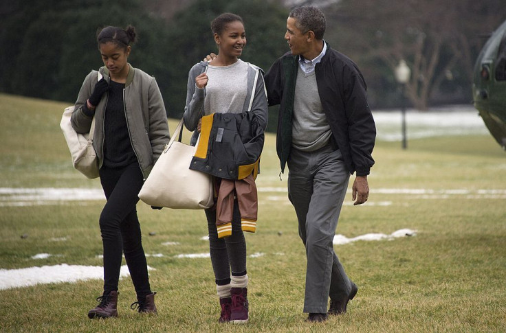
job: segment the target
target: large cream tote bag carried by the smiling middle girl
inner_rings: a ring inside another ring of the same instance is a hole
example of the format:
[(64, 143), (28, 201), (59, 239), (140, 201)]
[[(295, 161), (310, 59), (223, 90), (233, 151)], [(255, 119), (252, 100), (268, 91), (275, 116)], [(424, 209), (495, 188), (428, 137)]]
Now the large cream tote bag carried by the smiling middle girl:
[(195, 147), (181, 142), (182, 126), (183, 119), (144, 182), (139, 198), (155, 207), (208, 209), (213, 205), (212, 176), (190, 170)]

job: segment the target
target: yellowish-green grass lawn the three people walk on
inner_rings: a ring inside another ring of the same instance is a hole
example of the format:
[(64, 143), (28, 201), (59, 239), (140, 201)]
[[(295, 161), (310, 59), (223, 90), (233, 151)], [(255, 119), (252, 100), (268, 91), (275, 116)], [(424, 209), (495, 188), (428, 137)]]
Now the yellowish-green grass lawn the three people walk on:
[[(72, 169), (59, 122), (66, 104), (0, 94), (0, 188), (100, 189)], [(170, 119), (173, 130), (177, 120)], [(258, 179), (259, 227), (247, 234), (250, 323), (217, 323), (219, 304), (203, 211), (137, 205), (157, 316), (130, 310), (120, 281), (117, 319), (91, 321), (100, 279), (0, 290), (1, 332), (505, 332), (506, 153), (490, 135), (378, 141), (366, 205), (351, 194), (337, 233), (409, 228), (414, 237), (336, 245), (358, 295), (347, 314), (319, 324), (302, 313), (305, 251), (267, 135)], [(352, 178), (353, 180), (353, 178)], [(9, 205), (0, 194), (0, 268), (100, 266), (104, 200)], [(149, 236), (152, 233), (153, 236)], [(25, 238), (21, 238), (24, 235)], [(61, 241), (55, 241), (61, 240)], [(173, 242), (167, 244), (167, 242)], [(32, 259), (50, 253), (46, 259)], [(256, 254), (256, 255), (254, 255)]]

